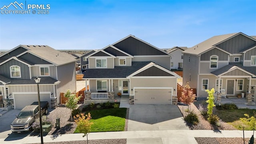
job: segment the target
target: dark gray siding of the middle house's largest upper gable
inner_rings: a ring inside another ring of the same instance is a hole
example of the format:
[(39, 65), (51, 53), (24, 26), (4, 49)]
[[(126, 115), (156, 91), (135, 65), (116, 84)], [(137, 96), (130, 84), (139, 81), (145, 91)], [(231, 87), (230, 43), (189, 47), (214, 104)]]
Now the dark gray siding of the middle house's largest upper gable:
[(166, 53), (133, 37), (128, 37), (114, 44), (114, 46), (128, 54), (131, 54), (132, 56), (167, 55)]

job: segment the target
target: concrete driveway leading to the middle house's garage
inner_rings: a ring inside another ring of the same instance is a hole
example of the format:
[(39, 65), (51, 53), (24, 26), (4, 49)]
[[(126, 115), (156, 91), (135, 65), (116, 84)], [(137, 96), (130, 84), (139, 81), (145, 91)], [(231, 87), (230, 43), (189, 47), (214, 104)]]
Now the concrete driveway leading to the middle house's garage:
[(189, 130), (176, 105), (130, 105), (128, 131)]

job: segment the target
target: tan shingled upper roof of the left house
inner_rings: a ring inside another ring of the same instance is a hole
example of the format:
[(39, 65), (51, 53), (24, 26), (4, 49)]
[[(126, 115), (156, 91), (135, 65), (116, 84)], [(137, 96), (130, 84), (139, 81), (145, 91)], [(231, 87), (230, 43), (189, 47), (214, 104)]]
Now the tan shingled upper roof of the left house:
[[(33, 54), (34, 56), (37, 56), (43, 60), (46, 60), (47, 62), (55, 64), (56, 66), (60, 66), (63, 64), (68, 64), (70, 62), (76, 61), (74, 56), (67, 54), (66, 52), (60, 52), (58, 50), (55, 50), (54, 48), (51, 48), (50, 46), (40, 46), (40, 45), (19, 45), (19, 46), (13, 48), (12, 50), (9, 50), (5, 54), (8, 54), (9, 52), (11, 52), (19, 47), (25, 48), (25, 49), (27, 49), (27, 51), (19, 54), (17, 57), (28, 52), (30, 54)], [(5, 54), (3, 54), (3, 55), (5, 55)], [(3, 55), (1, 55), (1, 56), (3, 56)]]

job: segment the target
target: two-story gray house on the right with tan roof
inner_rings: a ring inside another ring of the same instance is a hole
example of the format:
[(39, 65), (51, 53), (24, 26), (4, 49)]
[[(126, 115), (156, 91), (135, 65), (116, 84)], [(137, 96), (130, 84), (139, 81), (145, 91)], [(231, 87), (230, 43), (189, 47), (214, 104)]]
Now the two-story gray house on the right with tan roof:
[(183, 84), (190, 82), (198, 97), (206, 89), (225, 88), (227, 96), (255, 94), (256, 39), (242, 32), (214, 36), (184, 54)]

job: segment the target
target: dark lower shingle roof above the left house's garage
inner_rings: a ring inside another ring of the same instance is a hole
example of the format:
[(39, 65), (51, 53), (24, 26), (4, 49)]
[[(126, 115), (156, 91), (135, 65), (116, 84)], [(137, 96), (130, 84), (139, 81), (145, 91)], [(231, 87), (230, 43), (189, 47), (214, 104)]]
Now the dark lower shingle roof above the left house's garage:
[[(11, 80), (10, 84), (36, 84), (34, 80), (35, 78), (36, 77), (33, 77), (30, 80)], [(39, 84), (54, 84), (55, 82), (58, 82), (58, 80), (55, 80), (54, 78), (51, 78), (49, 76), (40, 78), (41, 80)]]

